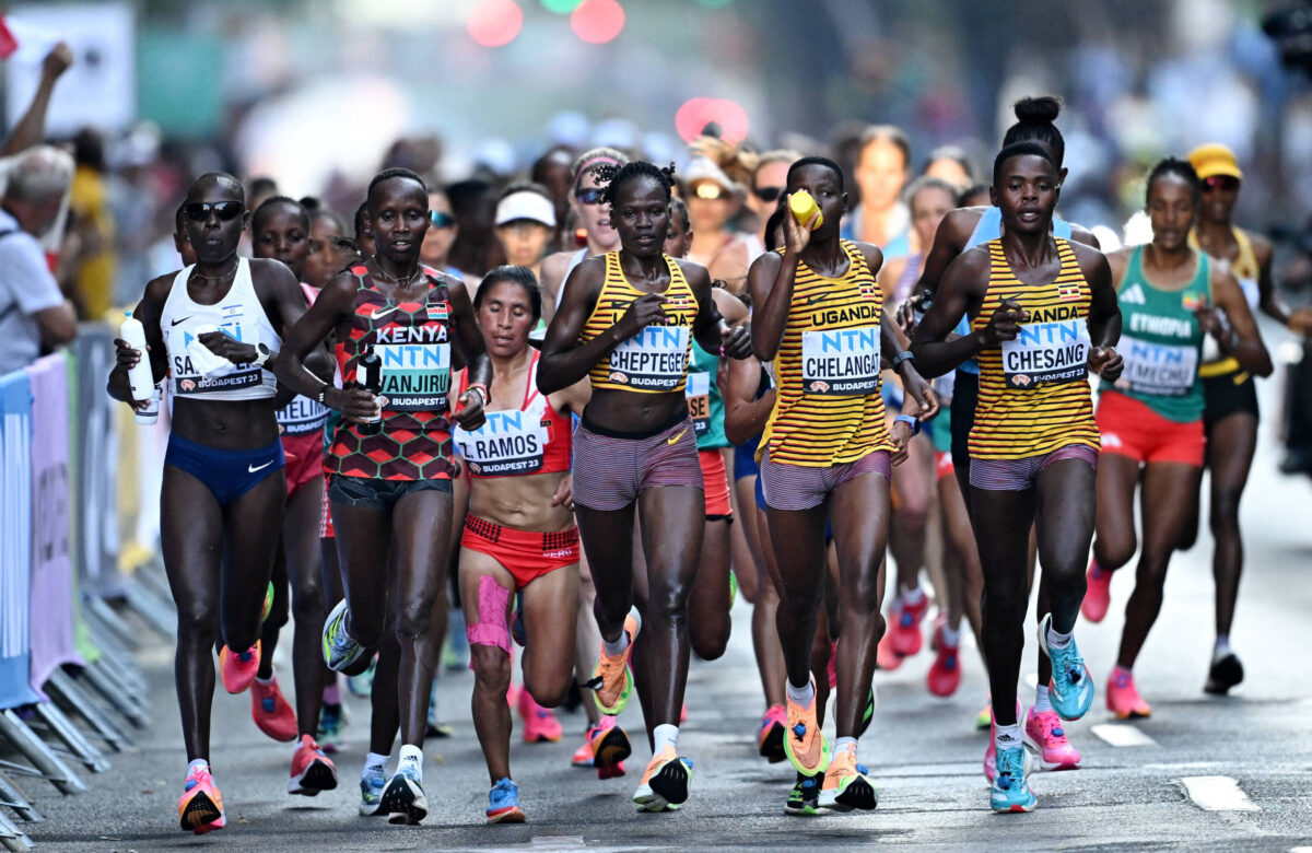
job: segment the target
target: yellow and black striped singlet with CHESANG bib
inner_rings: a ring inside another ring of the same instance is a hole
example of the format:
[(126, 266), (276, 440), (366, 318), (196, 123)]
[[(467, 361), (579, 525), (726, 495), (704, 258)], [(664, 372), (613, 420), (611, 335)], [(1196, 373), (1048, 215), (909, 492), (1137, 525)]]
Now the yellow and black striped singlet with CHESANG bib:
[(971, 428), (972, 459), (1025, 459), (1068, 445), (1099, 449), (1089, 392), (1089, 303), (1068, 240), (1056, 239), (1055, 281), (1026, 285), (1008, 264), (1002, 240), (988, 243), (989, 282), (971, 331), (988, 325), (1004, 299), (1030, 312), (1021, 333), (979, 354), (980, 391)]

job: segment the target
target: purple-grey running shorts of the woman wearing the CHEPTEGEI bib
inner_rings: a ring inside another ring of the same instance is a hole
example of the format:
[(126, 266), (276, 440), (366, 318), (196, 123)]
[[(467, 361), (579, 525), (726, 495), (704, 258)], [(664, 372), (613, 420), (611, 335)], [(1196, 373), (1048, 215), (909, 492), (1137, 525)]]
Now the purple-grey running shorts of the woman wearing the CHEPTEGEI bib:
[(705, 488), (697, 461), (697, 436), (687, 409), (652, 433), (621, 433), (588, 421), (575, 430), (573, 499), (601, 512), (614, 512), (638, 500), (648, 488)]

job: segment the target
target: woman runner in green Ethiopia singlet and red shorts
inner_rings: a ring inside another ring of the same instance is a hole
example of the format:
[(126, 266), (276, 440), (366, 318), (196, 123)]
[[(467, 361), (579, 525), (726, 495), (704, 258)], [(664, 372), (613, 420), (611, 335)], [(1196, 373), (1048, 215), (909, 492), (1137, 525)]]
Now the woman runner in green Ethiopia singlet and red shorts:
[[(1126, 605), (1117, 667), (1107, 680), (1107, 709), (1148, 717), (1134, 665), (1161, 610), (1166, 566), (1189, 538), (1203, 478), (1203, 382), (1198, 366), (1211, 333), (1221, 353), (1257, 375), (1271, 371), (1239, 282), (1203, 252), (1189, 230), (1202, 194), (1185, 160), (1166, 159), (1148, 176), (1147, 211), (1153, 240), (1107, 256), (1120, 303), (1119, 350), (1124, 371), (1103, 383), (1098, 400), (1102, 461), (1098, 520), (1084, 615), (1107, 613), (1111, 572), (1139, 550), (1135, 591)], [(1221, 319), (1224, 315), (1224, 320)], [(1141, 484), (1143, 543), (1135, 542), (1135, 488)]]

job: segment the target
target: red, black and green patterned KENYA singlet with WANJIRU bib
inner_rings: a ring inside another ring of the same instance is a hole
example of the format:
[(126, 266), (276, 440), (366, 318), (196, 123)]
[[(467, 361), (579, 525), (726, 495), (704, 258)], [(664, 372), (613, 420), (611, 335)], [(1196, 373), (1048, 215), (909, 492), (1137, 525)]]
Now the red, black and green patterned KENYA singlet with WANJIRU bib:
[(344, 387), (356, 381), (356, 364), (366, 346), (382, 360), (383, 428), (361, 434), (354, 423), (337, 427), (324, 470), (342, 476), (380, 480), (450, 479), (451, 434), (447, 423), (451, 391), (450, 302), (436, 270), (424, 302), (392, 304), (374, 287), (365, 266), (359, 280), (350, 337), (337, 343)]

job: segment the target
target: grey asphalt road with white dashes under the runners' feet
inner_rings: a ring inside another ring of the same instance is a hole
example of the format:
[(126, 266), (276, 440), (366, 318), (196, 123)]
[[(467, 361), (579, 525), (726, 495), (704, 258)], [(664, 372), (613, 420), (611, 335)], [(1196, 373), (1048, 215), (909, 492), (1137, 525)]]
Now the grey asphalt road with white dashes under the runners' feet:
[[(1267, 409), (1271, 411), (1271, 409)], [(350, 699), (350, 745), (337, 757), (342, 785), (316, 799), (286, 791), (291, 749), (251, 722), (248, 697), (215, 698), (211, 761), (227, 807), (227, 829), (205, 837), (177, 828), (176, 798), (184, 755), (173, 699), (171, 650), (160, 643), (142, 656), (152, 685), (151, 731), (136, 747), (112, 756), (113, 768), (87, 774), (88, 794), (60, 797), (29, 782), (47, 822), (28, 824), (49, 850), (640, 850), (830, 849), (916, 844), (930, 849), (1312, 849), (1312, 483), (1279, 476), (1274, 444), (1263, 447), (1244, 505), (1248, 575), (1233, 647), (1246, 681), (1224, 699), (1202, 684), (1212, 642), (1211, 541), (1177, 555), (1162, 617), (1136, 668), (1155, 715), (1117, 723), (1102, 686), (1114, 663), (1120, 612), (1132, 585), (1113, 584), (1113, 608), (1098, 626), (1081, 623), (1077, 638), (1098, 680), (1094, 710), (1068, 727), (1084, 768), (1036, 774), (1039, 808), (993, 815), (980, 772), (985, 735), (974, 730), (985, 698), (974, 652), (950, 699), (928, 694), (928, 650), (893, 673), (876, 676), (879, 710), (862, 739), (862, 761), (880, 790), (872, 814), (800, 819), (783, 815), (791, 783), (787, 765), (768, 765), (754, 752), (762, 709), (750, 652), (748, 605), (733, 613), (728, 654), (694, 664), (682, 751), (697, 762), (693, 798), (678, 814), (635, 814), (630, 802), (646, 749), (630, 776), (598, 781), (569, 766), (584, 717), (563, 715), (558, 744), (516, 743), (514, 776), (529, 816), (523, 825), (483, 824), (487, 774), (468, 719), (472, 675), (443, 676), (443, 715), (450, 740), (425, 747), (425, 789), (433, 810), (422, 827), (391, 827), (356, 814), (356, 778), (366, 745), (367, 702)], [(1033, 672), (1033, 634), (1027, 667)], [(1033, 678), (1033, 676), (1031, 676)], [(290, 681), (290, 678), (285, 678)], [(1022, 690), (1022, 701), (1031, 692)], [(622, 724), (640, 726), (636, 707)], [(1123, 744), (1123, 745), (1117, 745)], [(1218, 778), (1219, 777), (1219, 778)]]

